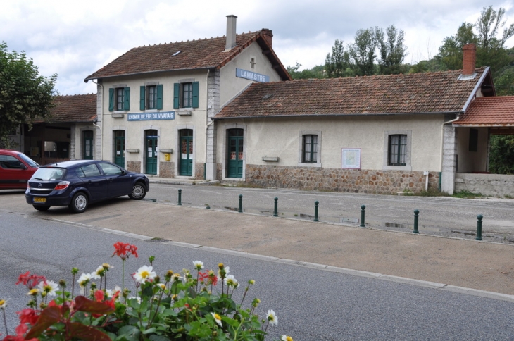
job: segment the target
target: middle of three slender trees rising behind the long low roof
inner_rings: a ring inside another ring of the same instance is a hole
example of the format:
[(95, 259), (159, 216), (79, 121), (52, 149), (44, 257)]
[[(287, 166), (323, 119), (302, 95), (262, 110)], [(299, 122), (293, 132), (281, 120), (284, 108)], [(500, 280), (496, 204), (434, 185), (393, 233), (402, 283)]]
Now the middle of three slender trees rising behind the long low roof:
[(377, 30), (378, 27), (358, 30), (355, 42), (349, 45), (349, 55), (357, 75), (372, 75), (375, 71)]

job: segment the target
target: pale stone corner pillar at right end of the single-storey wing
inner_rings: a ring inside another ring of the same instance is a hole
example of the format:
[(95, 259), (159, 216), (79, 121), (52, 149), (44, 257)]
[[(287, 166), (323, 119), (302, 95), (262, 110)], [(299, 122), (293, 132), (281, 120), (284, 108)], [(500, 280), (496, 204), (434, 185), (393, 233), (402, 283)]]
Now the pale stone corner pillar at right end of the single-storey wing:
[(443, 167), (441, 173), (441, 191), (453, 194), (455, 190), (455, 173), (457, 172), (457, 132), (451, 123), (443, 128)]

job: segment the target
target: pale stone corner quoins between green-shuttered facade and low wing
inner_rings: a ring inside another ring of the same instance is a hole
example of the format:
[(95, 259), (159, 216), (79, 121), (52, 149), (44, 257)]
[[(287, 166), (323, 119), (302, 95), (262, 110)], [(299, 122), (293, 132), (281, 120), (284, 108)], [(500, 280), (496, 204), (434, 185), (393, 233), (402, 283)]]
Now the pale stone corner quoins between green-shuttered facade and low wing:
[(216, 123), (212, 118), (220, 111), (220, 70), (208, 78), (206, 129), (206, 180), (216, 180)]

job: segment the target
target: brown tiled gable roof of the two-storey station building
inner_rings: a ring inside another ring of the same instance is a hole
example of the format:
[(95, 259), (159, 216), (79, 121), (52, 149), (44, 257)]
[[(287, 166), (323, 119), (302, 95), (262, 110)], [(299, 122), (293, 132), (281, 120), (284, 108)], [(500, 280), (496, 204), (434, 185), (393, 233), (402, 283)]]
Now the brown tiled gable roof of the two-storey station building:
[(135, 47), (87, 76), (84, 81), (159, 71), (221, 68), (252, 42), (257, 42), (263, 51), (267, 51), (266, 56), (270, 58), (282, 79), (291, 79), (275, 52), (265, 42), (263, 32), (258, 31), (236, 35), (236, 46), (227, 52), (225, 37)]

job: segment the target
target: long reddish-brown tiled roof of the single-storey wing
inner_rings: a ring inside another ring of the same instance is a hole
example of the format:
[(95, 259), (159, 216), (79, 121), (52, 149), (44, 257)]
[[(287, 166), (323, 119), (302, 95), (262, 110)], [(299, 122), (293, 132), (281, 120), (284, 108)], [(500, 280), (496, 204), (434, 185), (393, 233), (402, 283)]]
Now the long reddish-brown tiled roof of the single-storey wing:
[(485, 70), (253, 83), (215, 118), (459, 112)]

